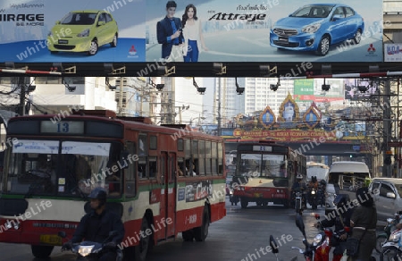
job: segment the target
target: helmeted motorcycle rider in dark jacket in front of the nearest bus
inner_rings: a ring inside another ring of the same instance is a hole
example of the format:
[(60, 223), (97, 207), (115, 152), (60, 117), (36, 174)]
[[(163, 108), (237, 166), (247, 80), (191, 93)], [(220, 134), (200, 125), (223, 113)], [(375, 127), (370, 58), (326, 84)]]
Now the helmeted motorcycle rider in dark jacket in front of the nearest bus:
[(99, 253), (97, 260), (116, 260), (117, 245), (124, 237), (124, 225), (120, 216), (105, 209), (106, 197), (107, 192), (104, 188), (98, 187), (91, 191), (88, 196), (91, 212), (81, 218), (72, 239), (63, 244), (62, 250), (70, 250), (73, 243), (80, 243), (84, 239), (103, 243), (109, 237), (109, 232), (115, 231), (117, 234), (105, 244), (105, 251)]

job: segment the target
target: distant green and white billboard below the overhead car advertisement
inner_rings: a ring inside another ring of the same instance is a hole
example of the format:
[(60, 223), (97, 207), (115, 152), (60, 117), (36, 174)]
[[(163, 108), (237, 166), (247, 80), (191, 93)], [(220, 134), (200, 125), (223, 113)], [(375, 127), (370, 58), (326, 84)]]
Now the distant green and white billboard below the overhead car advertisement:
[(325, 84), (330, 85), (328, 91), (322, 91), (322, 79), (295, 80), (293, 98), (297, 102), (331, 102), (341, 101), (345, 98), (343, 79), (326, 79)]

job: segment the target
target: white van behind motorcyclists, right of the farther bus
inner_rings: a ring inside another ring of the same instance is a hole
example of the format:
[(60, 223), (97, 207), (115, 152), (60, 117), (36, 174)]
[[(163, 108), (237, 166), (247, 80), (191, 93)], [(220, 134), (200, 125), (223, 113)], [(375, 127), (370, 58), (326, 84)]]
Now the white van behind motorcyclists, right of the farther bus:
[(335, 209), (333, 200), (338, 194), (348, 194), (350, 200), (356, 198), (356, 189), (366, 187), (371, 180), (366, 164), (353, 161), (339, 161), (331, 164), (328, 184), (325, 190), (325, 215)]

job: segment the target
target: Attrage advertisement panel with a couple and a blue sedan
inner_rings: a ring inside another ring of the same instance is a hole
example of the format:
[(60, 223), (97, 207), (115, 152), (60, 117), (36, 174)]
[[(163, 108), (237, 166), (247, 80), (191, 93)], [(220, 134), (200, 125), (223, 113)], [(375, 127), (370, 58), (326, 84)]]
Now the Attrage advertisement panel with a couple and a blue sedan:
[(382, 62), (381, 0), (177, 0), (173, 22), (167, 2), (147, 1), (147, 62)]

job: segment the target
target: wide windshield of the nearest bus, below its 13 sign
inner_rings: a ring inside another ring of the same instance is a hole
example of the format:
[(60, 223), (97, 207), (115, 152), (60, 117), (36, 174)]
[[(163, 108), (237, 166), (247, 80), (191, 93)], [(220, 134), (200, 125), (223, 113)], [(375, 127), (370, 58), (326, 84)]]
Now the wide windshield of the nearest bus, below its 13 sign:
[(109, 190), (112, 180), (113, 189), (121, 191), (120, 169), (110, 170), (120, 148), (118, 143), (19, 139), (6, 157), (4, 192), (85, 198), (95, 187)]

